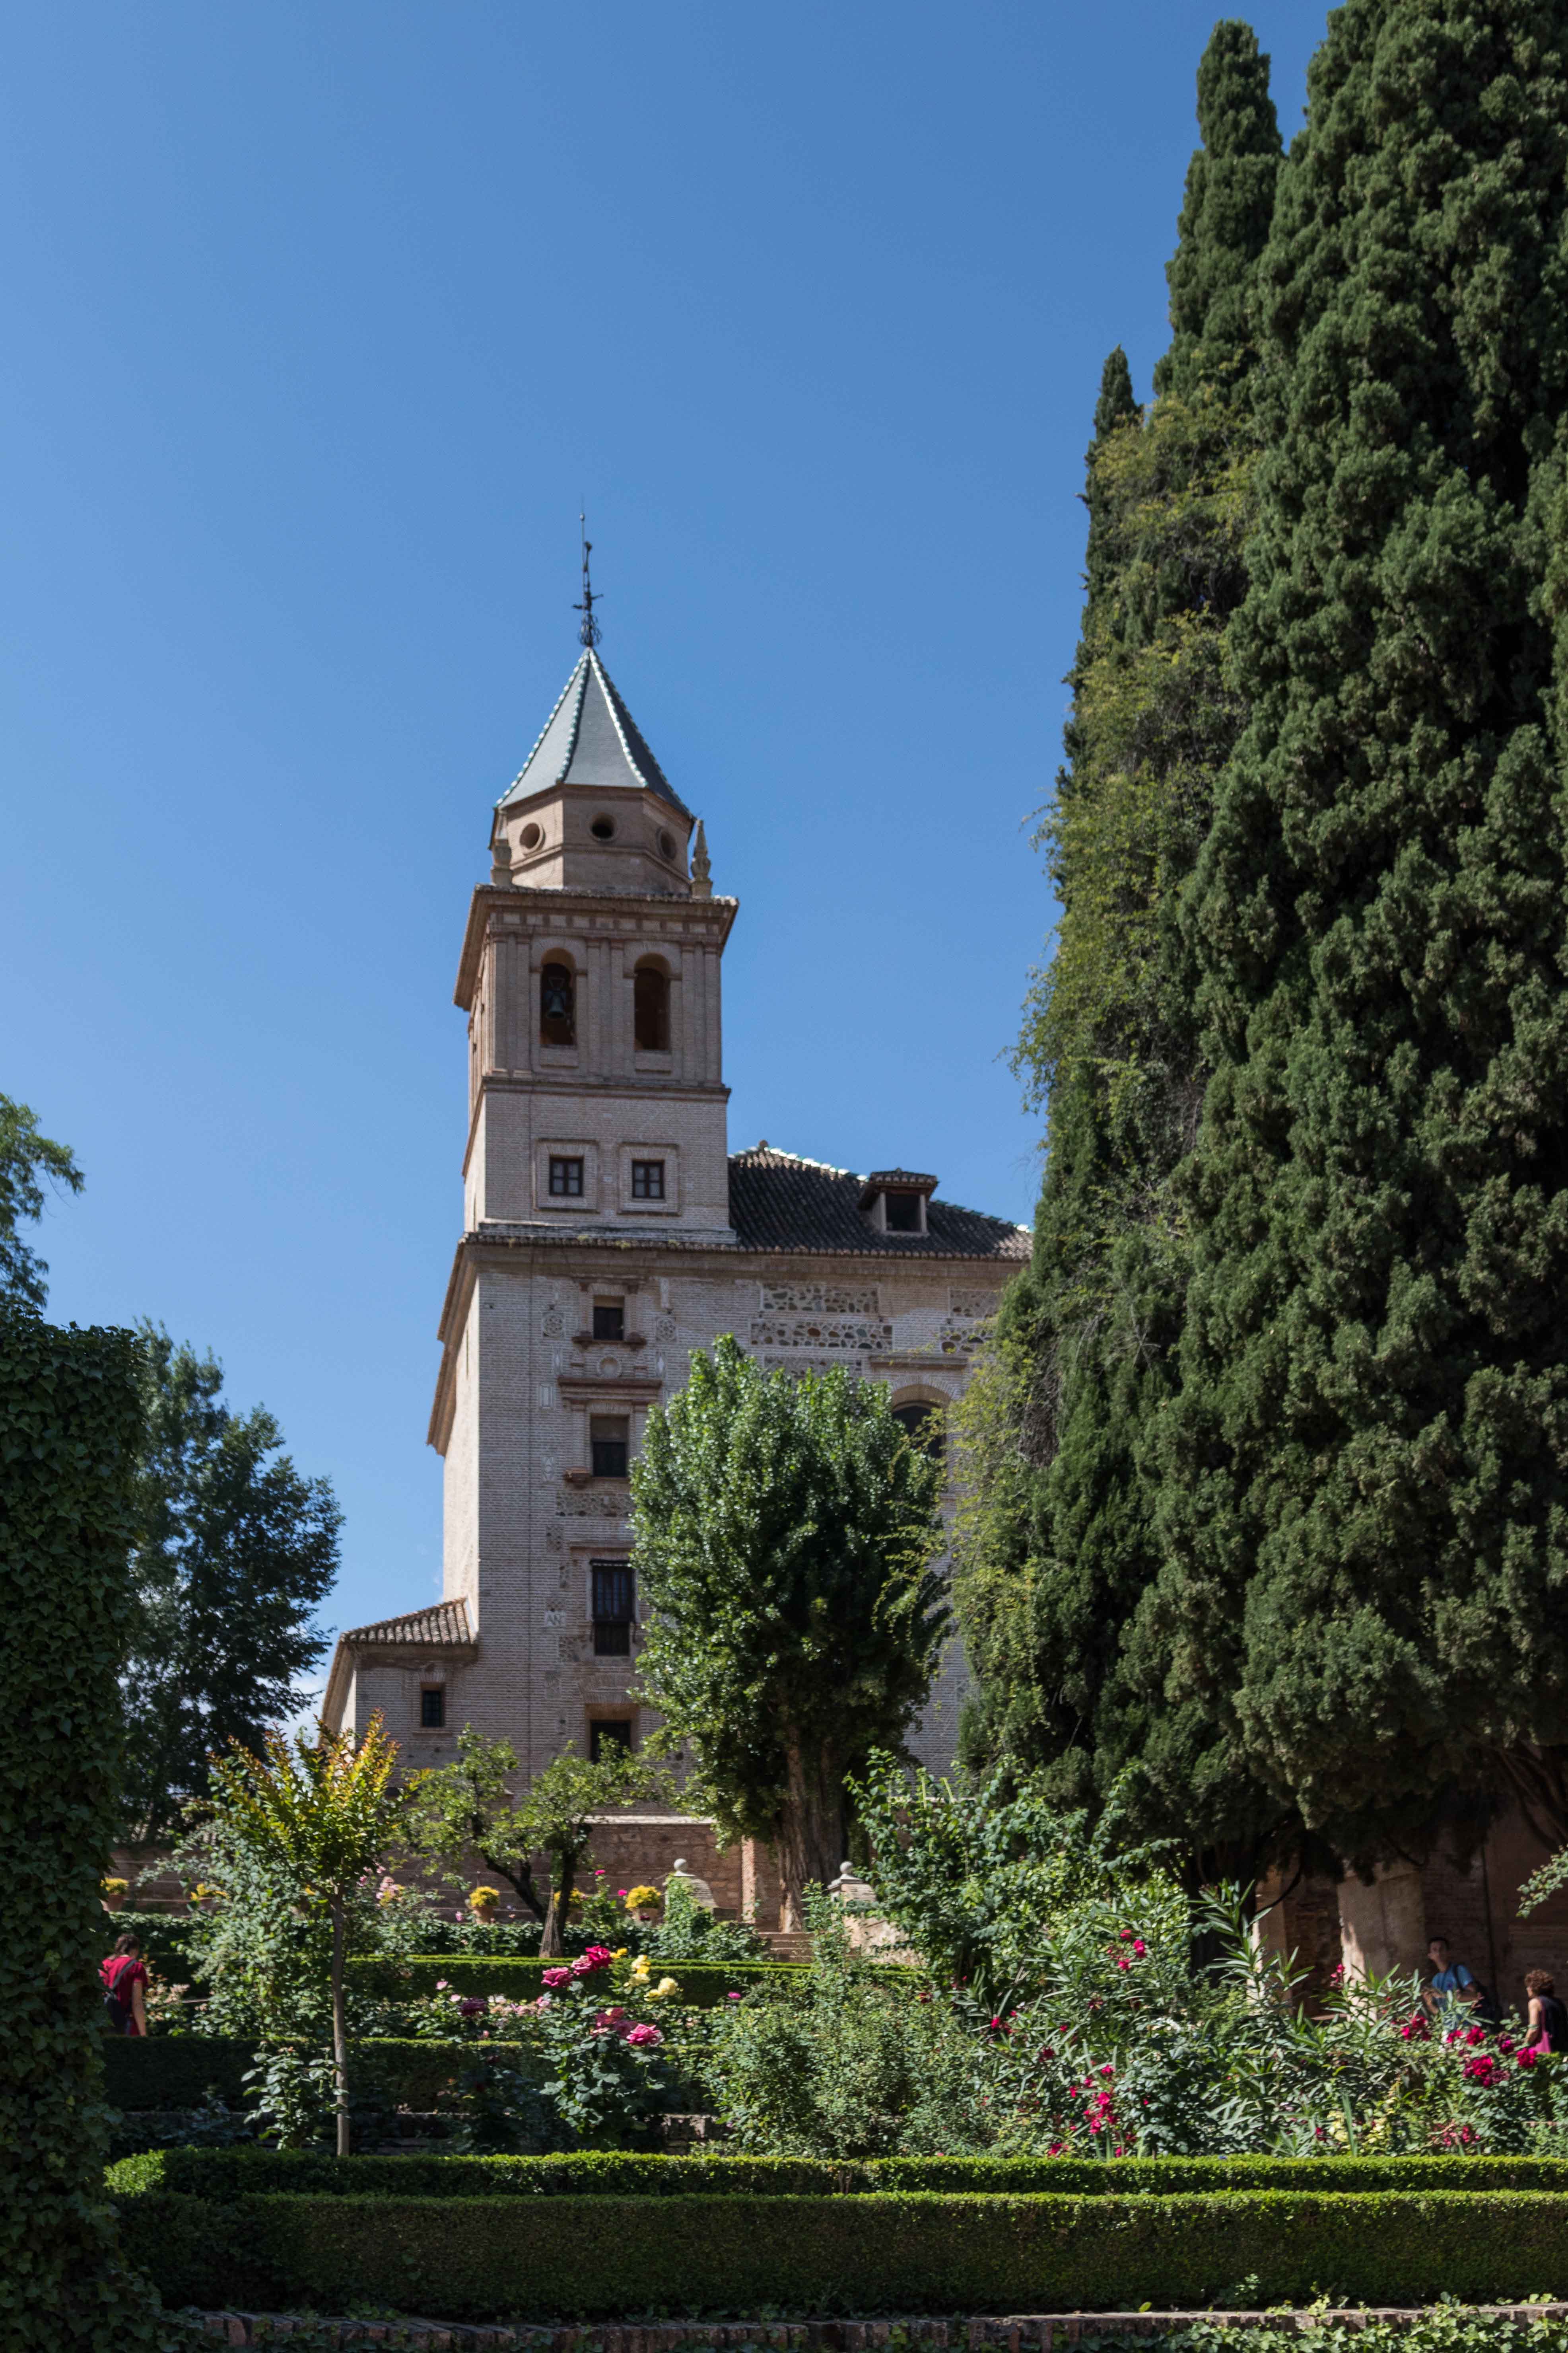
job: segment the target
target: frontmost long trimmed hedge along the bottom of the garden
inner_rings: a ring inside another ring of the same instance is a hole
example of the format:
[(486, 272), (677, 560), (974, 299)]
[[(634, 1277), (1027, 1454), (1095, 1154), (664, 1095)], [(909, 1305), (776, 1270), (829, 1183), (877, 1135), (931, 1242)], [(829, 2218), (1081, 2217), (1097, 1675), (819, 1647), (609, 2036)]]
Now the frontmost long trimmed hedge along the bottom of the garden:
[[(129, 2165), (148, 2160), (132, 2158)], [(172, 2304), (355, 2301), (442, 2320), (644, 2313), (1046, 2313), (1512, 2299), (1568, 2278), (1540, 2191), (1171, 2198), (120, 2200)]]

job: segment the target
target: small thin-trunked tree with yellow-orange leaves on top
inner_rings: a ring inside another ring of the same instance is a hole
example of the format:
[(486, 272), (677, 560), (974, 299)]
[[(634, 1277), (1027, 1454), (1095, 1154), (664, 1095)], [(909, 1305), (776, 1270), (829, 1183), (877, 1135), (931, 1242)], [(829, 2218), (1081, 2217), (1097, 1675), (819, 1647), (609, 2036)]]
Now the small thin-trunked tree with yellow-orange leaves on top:
[(407, 1788), (393, 1784), (397, 1741), (371, 1715), (362, 1744), (322, 1732), (294, 1748), (268, 1732), (266, 1755), (230, 1744), (212, 1767), (212, 1812), (221, 1833), (280, 1871), (301, 1904), (324, 1906), (331, 1922), (331, 2071), (339, 2155), (348, 2155), (348, 2017), (343, 1965), (348, 1915), (360, 1882), (393, 1847)]

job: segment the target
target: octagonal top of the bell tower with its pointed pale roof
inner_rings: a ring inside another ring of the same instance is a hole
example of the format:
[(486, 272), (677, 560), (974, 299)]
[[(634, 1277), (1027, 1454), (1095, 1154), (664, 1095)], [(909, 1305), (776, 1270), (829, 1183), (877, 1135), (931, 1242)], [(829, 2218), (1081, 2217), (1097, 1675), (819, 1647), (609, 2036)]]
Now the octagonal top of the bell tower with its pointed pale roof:
[(588, 647), (496, 805), (491, 880), (689, 899), (693, 824)]

